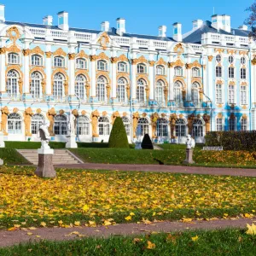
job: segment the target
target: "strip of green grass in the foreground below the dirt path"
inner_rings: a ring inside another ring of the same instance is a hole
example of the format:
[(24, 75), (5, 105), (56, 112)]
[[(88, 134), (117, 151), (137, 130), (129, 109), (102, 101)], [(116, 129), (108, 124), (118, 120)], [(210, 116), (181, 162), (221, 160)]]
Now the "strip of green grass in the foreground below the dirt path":
[[(194, 241), (193, 241), (194, 240)], [(147, 236), (111, 236), (75, 241), (39, 241), (0, 248), (3, 256), (26, 255), (256, 255), (256, 237), (245, 230), (187, 231)]]

